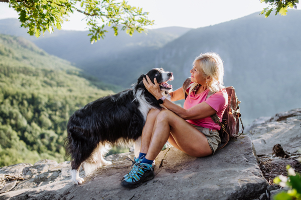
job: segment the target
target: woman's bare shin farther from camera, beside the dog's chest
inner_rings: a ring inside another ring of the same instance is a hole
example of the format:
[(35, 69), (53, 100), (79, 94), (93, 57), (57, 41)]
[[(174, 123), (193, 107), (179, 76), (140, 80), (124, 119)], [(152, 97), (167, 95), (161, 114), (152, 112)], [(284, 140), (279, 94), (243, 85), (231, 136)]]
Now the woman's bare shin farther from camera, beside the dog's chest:
[(160, 111), (160, 109), (150, 109), (146, 116), (146, 121), (141, 135), (141, 153), (147, 153), (150, 139), (152, 139), (155, 120)]

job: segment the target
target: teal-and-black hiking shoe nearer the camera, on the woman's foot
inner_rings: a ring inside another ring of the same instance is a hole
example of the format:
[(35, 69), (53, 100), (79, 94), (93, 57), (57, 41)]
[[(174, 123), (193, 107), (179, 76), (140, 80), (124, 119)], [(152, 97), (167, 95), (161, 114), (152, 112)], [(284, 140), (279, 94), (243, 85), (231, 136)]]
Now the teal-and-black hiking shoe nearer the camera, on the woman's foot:
[(133, 167), (121, 182), (121, 186), (127, 188), (135, 188), (140, 186), (147, 180), (152, 180), (155, 177), (154, 167), (152, 164), (136, 162), (136, 167)]

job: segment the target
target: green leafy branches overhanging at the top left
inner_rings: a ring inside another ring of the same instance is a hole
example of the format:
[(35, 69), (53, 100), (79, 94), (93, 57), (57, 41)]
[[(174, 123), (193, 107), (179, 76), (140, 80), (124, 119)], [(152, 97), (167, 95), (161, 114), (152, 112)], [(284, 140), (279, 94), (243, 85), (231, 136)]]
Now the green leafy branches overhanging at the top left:
[(84, 14), (90, 33), (91, 43), (105, 36), (106, 25), (111, 26), (114, 34), (118, 29), (126, 30), (132, 35), (134, 31), (145, 31), (144, 26), (153, 25), (147, 18), (148, 12), (142, 8), (130, 6), (125, 0), (0, 0), (10, 3), (20, 15), (23, 27), (27, 27), (30, 35), (40, 36), (46, 30), (61, 29), (66, 17), (74, 11)]

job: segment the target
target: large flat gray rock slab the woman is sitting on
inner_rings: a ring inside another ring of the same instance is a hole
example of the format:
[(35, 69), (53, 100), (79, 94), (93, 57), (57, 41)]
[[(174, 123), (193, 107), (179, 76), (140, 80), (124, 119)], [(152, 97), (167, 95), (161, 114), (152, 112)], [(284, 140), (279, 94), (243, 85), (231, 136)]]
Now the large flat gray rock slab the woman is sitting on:
[(156, 158), (155, 178), (135, 189), (120, 186), (120, 179), (130, 170), (127, 157), (133, 158), (133, 152), (107, 156), (112, 164), (100, 167), (80, 185), (60, 180), (9, 191), (0, 194), (0, 199), (251, 199), (268, 185), (248, 136), (231, 140), (206, 157), (192, 157), (169, 146)]

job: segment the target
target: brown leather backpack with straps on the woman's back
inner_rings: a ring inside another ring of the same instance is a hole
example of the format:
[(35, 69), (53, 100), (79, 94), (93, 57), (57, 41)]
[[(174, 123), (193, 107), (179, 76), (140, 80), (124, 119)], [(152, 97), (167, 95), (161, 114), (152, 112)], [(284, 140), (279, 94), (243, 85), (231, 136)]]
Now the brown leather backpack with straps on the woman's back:
[[(185, 80), (185, 82), (183, 83), (183, 92), (185, 95), (185, 99), (188, 96), (188, 92), (186, 91), (188, 86), (191, 84), (191, 79), (190, 77), (187, 78)], [(219, 144), (218, 149), (221, 149), (222, 147), (224, 147), (229, 139), (233, 139), (233, 138), (237, 138), (238, 136), (240, 136), (243, 133), (243, 124), (241, 121), (241, 114), (240, 114), (240, 109), (239, 109), (239, 103), (240, 101), (238, 100), (236, 93), (235, 93), (235, 89), (233, 86), (228, 86), (225, 87), (227, 94), (228, 94), (228, 105), (225, 109), (225, 112), (223, 114), (223, 118), (222, 121), (220, 121), (220, 118), (218, 117), (218, 115), (216, 113), (212, 114), (210, 117), (212, 118), (212, 120), (219, 124), (221, 126), (221, 129), (218, 131), (220, 138), (221, 138), (221, 144)], [(215, 92), (209, 91), (209, 93), (207, 94), (206, 100)], [(240, 123), (242, 125), (242, 132), (239, 134), (239, 119), (240, 119)]]

